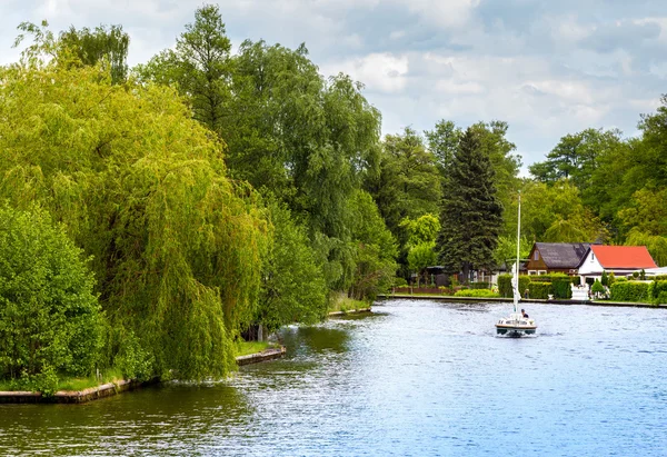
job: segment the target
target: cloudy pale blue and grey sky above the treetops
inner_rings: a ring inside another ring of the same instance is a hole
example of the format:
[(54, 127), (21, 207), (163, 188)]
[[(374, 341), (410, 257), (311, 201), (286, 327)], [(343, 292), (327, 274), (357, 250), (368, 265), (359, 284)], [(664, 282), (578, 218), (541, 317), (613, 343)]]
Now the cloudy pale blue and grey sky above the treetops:
[[(527, 166), (587, 128), (638, 135), (667, 92), (664, 0), (225, 0), (233, 46), (305, 42), (323, 76), (365, 85), (382, 135), (504, 120)], [(0, 63), (22, 21), (121, 24), (129, 64), (173, 47), (201, 0), (0, 0)]]

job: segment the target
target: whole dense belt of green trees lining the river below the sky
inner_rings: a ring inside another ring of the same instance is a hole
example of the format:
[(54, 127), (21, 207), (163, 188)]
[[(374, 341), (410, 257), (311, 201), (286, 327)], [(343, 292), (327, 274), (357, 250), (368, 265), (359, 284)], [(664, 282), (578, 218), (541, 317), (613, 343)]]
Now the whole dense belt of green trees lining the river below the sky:
[(22, 23), (0, 68), (0, 377), (200, 380), (249, 328), (316, 322), (440, 265), (534, 241), (646, 245), (667, 265), (667, 99), (641, 135), (586, 127), (520, 178), (509, 126), (381, 137), (364, 86), (216, 6), (128, 68), (121, 26)]

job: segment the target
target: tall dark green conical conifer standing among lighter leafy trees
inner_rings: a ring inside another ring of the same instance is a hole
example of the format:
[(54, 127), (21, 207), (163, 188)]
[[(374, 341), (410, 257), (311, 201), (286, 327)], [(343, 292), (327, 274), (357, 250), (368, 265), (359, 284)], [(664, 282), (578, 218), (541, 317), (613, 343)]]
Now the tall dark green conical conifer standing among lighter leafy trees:
[(442, 189), (438, 236), (441, 265), (450, 272), (494, 267), (494, 249), (502, 225), (502, 205), (496, 196), (494, 168), (478, 133), (468, 128), (449, 167)]

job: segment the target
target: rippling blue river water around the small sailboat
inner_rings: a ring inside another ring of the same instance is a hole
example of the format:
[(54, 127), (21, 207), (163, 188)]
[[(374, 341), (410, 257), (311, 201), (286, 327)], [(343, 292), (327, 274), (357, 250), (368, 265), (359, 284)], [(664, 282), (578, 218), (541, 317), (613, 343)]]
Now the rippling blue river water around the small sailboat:
[(0, 455), (665, 456), (667, 311), (379, 302), (281, 332), (225, 381), (84, 405), (0, 405)]

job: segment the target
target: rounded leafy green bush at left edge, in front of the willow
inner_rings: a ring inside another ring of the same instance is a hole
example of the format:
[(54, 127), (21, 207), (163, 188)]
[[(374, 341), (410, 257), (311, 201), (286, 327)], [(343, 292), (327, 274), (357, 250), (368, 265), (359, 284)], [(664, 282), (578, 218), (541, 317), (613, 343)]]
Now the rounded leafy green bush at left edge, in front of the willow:
[(0, 208), (0, 377), (48, 394), (58, 372), (93, 370), (102, 319), (93, 282), (47, 211)]

